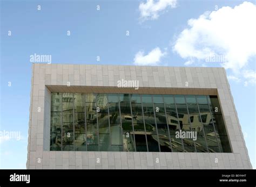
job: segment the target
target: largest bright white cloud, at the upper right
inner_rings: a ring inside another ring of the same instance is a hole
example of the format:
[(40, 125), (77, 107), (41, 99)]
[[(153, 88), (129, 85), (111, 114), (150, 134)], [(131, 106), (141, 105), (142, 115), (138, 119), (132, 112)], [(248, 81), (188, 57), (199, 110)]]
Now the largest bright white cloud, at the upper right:
[(249, 59), (256, 56), (255, 21), (256, 5), (250, 2), (205, 12), (198, 19), (187, 21), (188, 28), (179, 34), (173, 51), (200, 63), (209, 59), (221, 62), (221, 66), (233, 70), (235, 75), (253, 78), (254, 71), (254, 74), (250, 70), (246, 74), (240, 72), (248, 69)]

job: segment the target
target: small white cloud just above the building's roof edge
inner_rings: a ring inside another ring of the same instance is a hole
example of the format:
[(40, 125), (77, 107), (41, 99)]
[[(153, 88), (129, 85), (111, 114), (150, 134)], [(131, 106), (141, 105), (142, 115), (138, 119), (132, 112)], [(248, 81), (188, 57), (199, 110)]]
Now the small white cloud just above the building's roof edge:
[(159, 64), (162, 57), (167, 53), (161, 52), (159, 47), (152, 49), (147, 55), (144, 55), (143, 51), (139, 51), (134, 57), (134, 64), (141, 66), (154, 66)]

